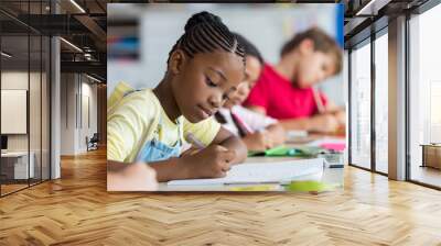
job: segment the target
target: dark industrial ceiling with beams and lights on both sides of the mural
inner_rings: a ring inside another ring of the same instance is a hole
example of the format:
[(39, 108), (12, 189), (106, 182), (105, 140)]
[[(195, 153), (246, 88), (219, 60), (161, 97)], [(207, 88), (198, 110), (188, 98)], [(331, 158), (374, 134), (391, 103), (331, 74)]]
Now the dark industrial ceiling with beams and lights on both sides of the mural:
[[(250, 0), (257, 2), (258, 0)], [(294, 0), (295, 3), (344, 3), (345, 41), (348, 41), (372, 22), (381, 16), (390, 16), (412, 8), (427, 0)], [(2, 48), (13, 53), (17, 60), (28, 59), (28, 42), (19, 36), (32, 34), (61, 35), (72, 47), (62, 42), (62, 71), (83, 71), (106, 79), (106, 32), (107, 3), (121, 2), (168, 2), (164, 0), (1, 0), (0, 29), (3, 35)], [(176, 0), (171, 2), (194, 2)], [(198, 2), (204, 2), (198, 1)], [(206, 2), (209, 2), (208, 0)], [(224, 0), (222, 2), (235, 2)], [(243, 1), (241, 1), (243, 2)], [(261, 2), (273, 2), (261, 0)], [(277, 1), (284, 2), (284, 1)], [(75, 4), (76, 3), (76, 4)], [(369, 7), (369, 8), (365, 8)], [(52, 8), (52, 9), (51, 9)], [(57, 14), (53, 14), (57, 10)], [(362, 9), (368, 9), (363, 14)], [(366, 14), (367, 13), (367, 14)], [(4, 37), (7, 36), (7, 37)], [(33, 42), (31, 42), (33, 43)], [(31, 44), (32, 45), (32, 44)], [(31, 48), (31, 59), (40, 51)], [(34, 54), (35, 53), (35, 54)], [(87, 58), (85, 56), (85, 54)]]

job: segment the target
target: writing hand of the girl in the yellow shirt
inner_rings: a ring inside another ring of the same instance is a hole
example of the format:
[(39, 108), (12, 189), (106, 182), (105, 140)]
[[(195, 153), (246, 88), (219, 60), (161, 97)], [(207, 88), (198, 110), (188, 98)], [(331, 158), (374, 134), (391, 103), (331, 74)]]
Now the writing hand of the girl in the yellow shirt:
[(235, 150), (228, 150), (220, 145), (211, 145), (193, 155), (181, 159), (189, 178), (222, 178), (230, 169), (236, 157)]

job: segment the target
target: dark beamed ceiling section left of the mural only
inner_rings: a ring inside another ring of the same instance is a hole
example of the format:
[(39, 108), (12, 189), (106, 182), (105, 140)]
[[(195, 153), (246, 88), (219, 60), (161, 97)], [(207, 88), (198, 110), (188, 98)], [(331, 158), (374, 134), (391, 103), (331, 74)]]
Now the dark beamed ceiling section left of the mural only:
[[(68, 42), (61, 42), (62, 72), (87, 72), (105, 81), (107, 1), (76, 0), (74, 3), (69, 0), (52, 0), (51, 5), (49, 0), (1, 0), (2, 51), (13, 55), (2, 66), (13, 69), (25, 69), (29, 65), (33, 67), (41, 63), (40, 43), (35, 44), (40, 36), (60, 35)], [(53, 14), (55, 10), (57, 14)], [(23, 37), (29, 34), (30, 42)], [(6, 60), (3, 56), (2, 60)]]

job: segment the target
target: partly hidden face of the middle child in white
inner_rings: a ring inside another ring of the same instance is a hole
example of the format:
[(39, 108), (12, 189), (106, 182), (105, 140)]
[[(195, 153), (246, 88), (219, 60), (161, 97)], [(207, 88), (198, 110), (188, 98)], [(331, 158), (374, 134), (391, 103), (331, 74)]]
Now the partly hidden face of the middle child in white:
[(262, 66), (254, 56), (246, 57), (247, 66), (245, 69), (245, 80), (237, 87), (236, 93), (225, 102), (225, 108), (232, 109), (234, 105), (241, 104), (247, 98), (252, 87), (260, 76)]

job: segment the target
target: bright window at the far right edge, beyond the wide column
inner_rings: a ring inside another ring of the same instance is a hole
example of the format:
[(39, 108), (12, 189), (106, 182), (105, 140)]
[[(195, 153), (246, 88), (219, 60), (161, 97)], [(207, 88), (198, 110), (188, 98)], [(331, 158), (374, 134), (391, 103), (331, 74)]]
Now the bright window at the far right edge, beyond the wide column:
[(422, 145), (441, 143), (441, 36), (433, 31), (439, 29), (439, 23), (440, 4), (409, 20), (408, 171), (411, 180), (435, 187), (441, 187), (441, 155), (438, 155), (438, 168), (426, 166)]

